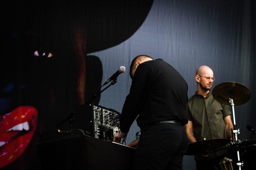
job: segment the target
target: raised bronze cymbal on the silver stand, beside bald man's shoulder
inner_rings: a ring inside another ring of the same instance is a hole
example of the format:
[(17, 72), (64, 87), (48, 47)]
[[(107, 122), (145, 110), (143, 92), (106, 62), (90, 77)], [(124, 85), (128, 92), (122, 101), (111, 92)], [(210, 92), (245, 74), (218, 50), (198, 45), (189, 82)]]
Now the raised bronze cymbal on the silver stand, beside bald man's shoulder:
[(216, 101), (230, 105), (229, 98), (233, 99), (235, 106), (246, 103), (251, 98), (250, 90), (238, 82), (223, 82), (215, 86), (212, 96)]

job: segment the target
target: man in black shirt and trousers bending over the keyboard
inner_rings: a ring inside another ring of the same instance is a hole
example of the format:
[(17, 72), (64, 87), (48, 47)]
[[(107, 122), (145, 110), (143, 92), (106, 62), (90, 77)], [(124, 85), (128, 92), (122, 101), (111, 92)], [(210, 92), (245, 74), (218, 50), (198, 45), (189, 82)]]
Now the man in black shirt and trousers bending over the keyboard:
[(125, 141), (137, 118), (141, 138), (135, 152), (133, 169), (182, 169), (187, 152), (187, 83), (170, 64), (146, 55), (133, 59), (130, 93), (123, 105), (119, 135)]

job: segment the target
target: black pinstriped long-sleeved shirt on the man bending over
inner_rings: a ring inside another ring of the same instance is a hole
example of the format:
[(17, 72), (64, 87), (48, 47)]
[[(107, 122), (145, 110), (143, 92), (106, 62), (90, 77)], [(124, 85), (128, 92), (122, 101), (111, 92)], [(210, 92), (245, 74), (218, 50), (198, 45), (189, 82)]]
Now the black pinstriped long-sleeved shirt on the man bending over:
[(120, 130), (127, 133), (138, 115), (141, 128), (161, 120), (187, 124), (187, 90), (186, 81), (170, 64), (162, 59), (143, 62), (123, 105)]

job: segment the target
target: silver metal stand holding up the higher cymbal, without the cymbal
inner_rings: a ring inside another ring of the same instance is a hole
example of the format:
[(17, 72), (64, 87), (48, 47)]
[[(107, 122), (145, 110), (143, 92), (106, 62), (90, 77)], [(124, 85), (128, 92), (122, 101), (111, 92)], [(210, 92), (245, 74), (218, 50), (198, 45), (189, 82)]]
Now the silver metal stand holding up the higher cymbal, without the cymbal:
[[(240, 130), (236, 129), (236, 119), (235, 119), (235, 110), (234, 110), (234, 101), (233, 101), (233, 93), (230, 93), (229, 103), (232, 106), (232, 113), (233, 113), (233, 134), (235, 134), (235, 143), (240, 143), (240, 140), (237, 140), (237, 133), (240, 134)], [(232, 134), (232, 135), (233, 135)], [(233, 136), (232, 136), (233, 138)], [(236, 147), (237, 148), (237, 147)], [(239, 155), (239, 149), (237, 149), (237, 163), (236, 165), (239, 166), (239, 170), (241, 170), (241, 166), (243, 165), (243, 162), (240, 162), (240, 155)]]

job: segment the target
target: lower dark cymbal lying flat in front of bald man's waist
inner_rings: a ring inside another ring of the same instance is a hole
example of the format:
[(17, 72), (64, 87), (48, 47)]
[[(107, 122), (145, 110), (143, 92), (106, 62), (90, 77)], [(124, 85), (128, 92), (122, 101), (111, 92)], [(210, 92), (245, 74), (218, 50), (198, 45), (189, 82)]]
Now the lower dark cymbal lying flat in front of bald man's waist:
[(185, 155), (202, 155), (207, 153), (216, 152), (221, 150), (220, 148), (225, 148), (225, 145), (230, 143), (232, 140), (230, 139), (207, 139), (198, 141), (195, 143), (191, 143), (188, 145), (188, 150)]

